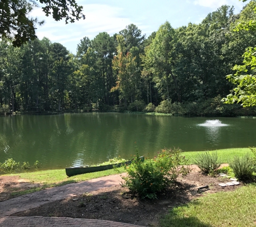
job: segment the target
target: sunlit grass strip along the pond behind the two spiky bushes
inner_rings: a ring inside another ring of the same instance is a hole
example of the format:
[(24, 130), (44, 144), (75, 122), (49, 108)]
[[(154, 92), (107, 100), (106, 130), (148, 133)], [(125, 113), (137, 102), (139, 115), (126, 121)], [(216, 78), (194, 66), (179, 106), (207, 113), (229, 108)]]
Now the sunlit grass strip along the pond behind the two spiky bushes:
[[(190, 164), (194, 164), (194, 160), (197, 157), (198, 153), (201, 153), (203, 151), (189, 151), (189, 152), (183, 152), (184, 156), (186, 158), (190, 159)], [(215, 151), (210, 151), (210, 153)], [(252, 154), (251, 150), (249, 148), (229, 148), (229, 149), (222, 149), (217, 150), (218, 154), (218, 160), (220, 163), (229, 163), (231, 160), (233, 160), (234, 156), (237, 157), (243, 157), (246, 153)]]

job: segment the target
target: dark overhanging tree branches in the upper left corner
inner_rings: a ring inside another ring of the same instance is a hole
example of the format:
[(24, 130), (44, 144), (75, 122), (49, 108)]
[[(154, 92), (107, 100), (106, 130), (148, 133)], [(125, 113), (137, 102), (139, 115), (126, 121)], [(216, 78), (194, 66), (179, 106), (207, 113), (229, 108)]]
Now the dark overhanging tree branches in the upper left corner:
[[(82, 6), (79, 6), (75, 0), (51, 1), (39, 0), (43, 4), (43, 11), (46, 16), (52, 15), (53, 19), (65, 19), (73, 23), (75, 19), (85, 19), (82, 14)], [(28, 17), (28, 13), (38, 7), (36, 1), (31, 0), (1, 0), (0, 3), (0, 38), (13, 38), (13, 46), (19, 47), (23, 43), (34, 40), (36, 36), (36, 25), (44, 22), (38, 22), (36, 18)]]

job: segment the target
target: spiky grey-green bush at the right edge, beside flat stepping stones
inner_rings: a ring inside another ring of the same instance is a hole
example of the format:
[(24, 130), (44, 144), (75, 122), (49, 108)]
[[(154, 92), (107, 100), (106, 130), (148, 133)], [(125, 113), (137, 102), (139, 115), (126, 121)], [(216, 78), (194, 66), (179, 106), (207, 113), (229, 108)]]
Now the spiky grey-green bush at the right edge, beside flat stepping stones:
[(253, 159), (248, 153), (241, 158), (235, 156), (230, 163), (230, 167), (239, 180), (250, 180), (253, 178), (255, 166), (253, 165)]

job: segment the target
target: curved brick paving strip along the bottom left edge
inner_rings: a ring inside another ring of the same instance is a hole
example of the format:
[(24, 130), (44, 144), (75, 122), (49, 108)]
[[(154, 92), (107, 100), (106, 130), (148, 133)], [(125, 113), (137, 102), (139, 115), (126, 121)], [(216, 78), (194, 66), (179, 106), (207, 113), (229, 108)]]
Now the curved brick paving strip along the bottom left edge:
[(99, 219), (82, 219), (70, 217), (1, 217), (0, 226), (77, 226), (77, 227), (138, 227), (139, 225)]

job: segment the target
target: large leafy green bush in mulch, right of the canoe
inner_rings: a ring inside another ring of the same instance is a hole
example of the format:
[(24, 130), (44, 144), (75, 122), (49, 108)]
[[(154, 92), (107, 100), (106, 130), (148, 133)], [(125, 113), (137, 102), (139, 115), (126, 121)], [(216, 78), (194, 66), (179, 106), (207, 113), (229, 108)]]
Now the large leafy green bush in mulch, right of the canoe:
[(162, 150), (154, 159), (142, 161), (137, 155), (130, 166), (128, 176), (123, 176), (124, 186), (141, 198), (156, 198), (156, 193), (171, 186), (179, 174), (190, 172), (188, 160), (180, 149)]

